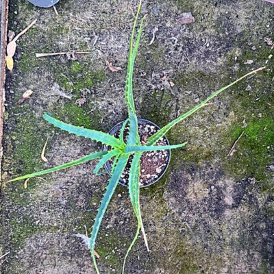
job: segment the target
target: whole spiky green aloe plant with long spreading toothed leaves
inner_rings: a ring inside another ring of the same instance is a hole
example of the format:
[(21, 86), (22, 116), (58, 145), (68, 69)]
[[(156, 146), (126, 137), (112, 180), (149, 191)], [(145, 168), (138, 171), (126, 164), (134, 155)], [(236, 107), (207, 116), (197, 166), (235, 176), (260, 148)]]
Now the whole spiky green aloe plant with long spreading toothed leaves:
[[(36, 177), (40, 175), (45, 175), (47, 173), (52, 173), (54, 171), (59, 171), (61, 169), (67, 169), (71, 166), (75, 166), (77, 164), (82, 164), (84, 162), (88, 162), (90, 160), (100, 159), (99, 163), (95, 167), (94, 173), (97, 174), (99, 170), (103, 167), (103, 165), (108, 162), (111, 158), (114, 158), (114, 162), (112, 164), (112, 171), (111, 171), (111, 177), (108, 181), (108, 186), (105, 190), (105, 194), (103, 195), (103, 199), (101, 201), (101, 206), (99, 207), (95, 222), (92, 227), (92, 232), (90, 236), (90, 242), (89, 242), (89, 249), (92, 256), (92, 261), (94, 263), (95, 269), (97, 273), (99, 273), (99, 269), (97, 267), (97, 262), (95, 259), (95, 242), (97, 239), (97, 234), (99, 232), (99, 227), (101, 225), (101, 221), (103, 219), (103, 215), (105, 214), (105, 210), (108, 208), (108, 204), (110, 203), (110, 199), (112, 199), (112, 195), (114, 193), (114, 190), (119, 182), (119, 179), (125, 169), (125, 166), (127, 165), (127, 162), (129, 160), (129, 157), (133, 155), (132, 158), (132, 164), (130, 166), (129, 170), (129, 179), (128, 179), (128, 188), (129, 188), (129, 197), (132, 202), (132, 208), (134, 211), (134, 214), (136, 215), (137, 220), (137, 229), (136, 234), (134, 236), (134, 239), (132, 240), (132, 244), (129, 246), (127, 253), (125, 255), (125, 259), (123, 262), (123, 270), (122, 273), (125, 272), (125, 262), (126, 258), (129, 255), (129, 251), (134, 246), (134, 243), (136, 242), (138, 235), (140, 231), (142, 232), (143, 238), (145, 240), (145, 245), (147, 247), (147, 250), (149, 250), (149, 246), (147, 243), (147, 237), (145, 234), (145, 229), (142, 224), (142, 216), (140, 212), (140, 161), (142, 157), (142, 153), (145, 151), (155, 151), (155, 150), (165, 150), (165, 149), (177, 149), (180, 147), (184, 147), (186, 145), (186, 142), (179, 144), (179, 145), (165, 145), (165, 146), (159, 146), (155, 145), (165, 134), (168, 132), (172, 127), (174, 127), (177, 123), (183, 121), (191, 114), (194, 114), (199, 110), (200, 108), (203, 108), (208, 101), (216, 97), (216, 95), (219, 95), (219, 93), (223, 92), (227, 88), (233, 86), (240, 80), (244, 79), (245, 77), (252, 75), (253, 73), (258, 73), (259, 71), (262, 71), (263, 68), (256, 69), (255, 71), (251, 71), (247, 73), (246, 75), (243, 75), (239, 79), (236, 79), (236, 81), (232, 82), (231, 84), (225, 86), (224, 88), (221, 88), (219, 90), (216, 90), (215, 92), (210, 95), (206, 100), (199, 103), (199, 105), (196, 105), (195, 108), (192, 108), (192, 110), (189, 110), (186, 112), (186, 114), (183, 114), (182, 116), (179, 116), (177, 119), (171, 121), (171, 123), (165, 125), (162, 127), (162, 129), (158, 130), (153, 136), (149, 137), (147, 140), (147, 143), (145, 145), (141, 145), (140, 143), (140, 136), (138, 134), (138, 119), (136, 115), (135, 105), (134, 105), (134, 95), (133, 95), (133, 88), (132, 88), (132, 78), (133, 78), (133, 70), (134, 70), (134, 62), (136, 60), (136, 54), (138, 51), (138, 45), (140, 42), (140, 36), (142, 32), (142, 23), (145, 19), (145, 16), (142, 17), (140, 21), (140, 26), (138, 28), (138, 34), (136, 38), (136, 42), (134, 45), (134, 32), (136, 29), (136, 24), (138, 22), (138, 15), (141, 8), (141, 1), (138, 5), (138, 10), (136, 13), (136, 18), (134, 21), (133, 29), (132, 29), (132, 35), (130, 38), (129, 43), (129, 60), (128, 60), (128, 66), (127, 66), (127, 80), (126, 80), (126, 86), (125, 86), (125, 101), (127, 104), (127, 110), (128, 110), (128, 119), (123, 123), (123, 127), (121, 128), (121, 132), (119, 134), (119, 138), (116, 138), (114, 136), (111, 136), (110, 134), (106, 134), (103, 132), (98, 132), (96, 130), (92, 129), (85, 129), (83, 127), (77, 127), (75, 125), (69, 125), (67, 123), (64, 123), (62, 121), (59, 121), (58, 119), (53, 118), (51, 114), (45, 113), (44, 119), (54, 125), (55, 127), (58, 127), (66, 132), (69, 132), (70, 134), (75, 134), (77, 136), (83, 136), (85, 138), (89, 138), (90, 140), (95, 140), (97, 142), (101, 142), (105, 145), (108, 145), (111, 147), (109, 151), (99, 151), (96, 153), (92, 153), (89, 155), (86, 155), (82, 158), (79, 158), (77, 160), (74, 160), (72, 162), (68, 162), (66, 164), (62, 164), (60, 166), (53, 167), (52, 169), (47, 169), (44, 171), (40, 171), (37, 173), (27, 174), (21, 177), (17, 177), (15, 179), (11, 179), (9, 182), (18, 181), (21, 179), (27, 179), (31, 177)], [(127, 138), (124, 141), (123, 134), (126, 125), (129, 126), (129, 132), (127, 134)]]

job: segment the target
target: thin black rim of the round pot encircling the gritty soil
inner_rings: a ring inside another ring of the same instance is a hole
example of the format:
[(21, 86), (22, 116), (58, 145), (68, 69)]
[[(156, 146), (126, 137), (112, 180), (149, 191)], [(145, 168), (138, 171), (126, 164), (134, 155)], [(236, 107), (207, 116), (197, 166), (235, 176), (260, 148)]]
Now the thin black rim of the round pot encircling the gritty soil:
[[(116, 125), (114, 125), (114, 127), (112, 127), (112, 129), (110, 129), (110, 131), (108, 132), (108, 134), (110, 135), (114, 135), (118, 129), (121, 129), (123, 123), (125, 121), (121, 121), (119, 123), (117, 123)], [(156, 125), (155, 123), (147, 120), (147, 119), (142, 119), (142, 118), (138, 118), (138, 123), (141, 123), (141, 124), (150, 124), (150, 125), (153, 125), (154, 127), (157, 127), (158, 129), (161, 129), (158, 125)], [(169, 143), (169, 139), (166, 137), (166, 135), (164, 135), (164, 138), (166, 139), (166, 142), (167, 142), (167, 145), (170, 145)], [(102, 147), (102, 150), (107, 150), (108, 146), (107, 145), (103, 145)], [(160, 175), (160, 177), (158, 177), (157, 179), (154, 179), (151, 183), (149, 184), (146, 184), (144, 186), (140, 186), (140, 188), (146, 188), (147, 186), (151, 186), (152, 184), (155, 184), (156, 182), (158, 182), (163, 176), (164, 174), (166, 173), (167, 169), (169, 168), (169, 164), (171, 162), (171, 149), (166, 149), (167, 151), (169, 151), (169, 157), (168, 157), (168, 160), (166, 162), (166, 166), (164, 168), (164, 171), (162, 172), (162, 174)], [(104, 168), (105, 168), (105, 171), (107, 171), (108, 175), (111, 177), (112, 174), (111, 174), (111, 171), (110, 171), (110, 161), (106, 162), (104, 164)], [(119, 179), (119, 184), (121, 184), (122, 186), (125, 186), (128, 188), (128, 186), (121, 180), (121, 178)]]

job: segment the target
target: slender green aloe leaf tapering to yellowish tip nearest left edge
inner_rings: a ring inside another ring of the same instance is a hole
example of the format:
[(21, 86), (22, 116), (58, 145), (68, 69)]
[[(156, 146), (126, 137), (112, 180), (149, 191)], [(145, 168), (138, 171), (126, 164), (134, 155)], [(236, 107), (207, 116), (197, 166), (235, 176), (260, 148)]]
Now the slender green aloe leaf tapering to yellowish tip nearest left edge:
[(60, 166), (55, 166), (55, 167), (53, 167), (51, 169), (46, 169), (45, 171), (38, 171), (36, 173), (27, 174), (27, 175), (24, 175), (24, 176), (21, 176), (21, 177), (17, 177), (15, 179), (11, 179), (8, 182), (15, 182), (15, 181), (19, 181), (21, 179), (27, 179), (27, 178), (37, 177), (37, 176), (45, 175), (45, 174), (52, 173), (52, 172), (55, 172), (55, 171), (60, 171), (61, 169), (67, 169), (67, 168), (69, 168), (71, 166), (75, 166), (76, 164), (82, 164), (82, 163), (88, 162), (90, 160), (101, 158), (106, 153), (108, 153), (108, 151), (99, 151), (99, 152), (96, 152), (96, 153), (92, 153), (92, 154), (86, 155), (86, 156), (84, 156), (82, 158), (79, 158), (77, 160), (68, 162), (66, 164), (61, 164)]

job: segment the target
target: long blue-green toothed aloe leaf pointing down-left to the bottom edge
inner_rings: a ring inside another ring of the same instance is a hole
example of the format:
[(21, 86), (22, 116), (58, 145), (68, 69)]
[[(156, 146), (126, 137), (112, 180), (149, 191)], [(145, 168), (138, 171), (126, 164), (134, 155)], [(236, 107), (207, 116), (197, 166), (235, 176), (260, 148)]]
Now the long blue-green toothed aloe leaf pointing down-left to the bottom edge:
[(125, 169), (125, 166), (127, 165), (127, 161), (129, 159), (129, 154), (123, 154), (120, 156), (116, 168), (114, 169), (114, 173), (112, 174), (112, 177), (109, 180), (108, 186), (105, 190), (105, 194), (103, 195), (103, 199), (101, 201), (101, 206), (99, 207), (97, 216), (95, 218), (95, 223), (92, 227), (92, 232), (90, 236), (90, 253), (92, 256), (93, 263), (95, 265), (95, 269), (97, 273), (99, 273), (95, 255), (94, 255), (94, 249), (95, 249), (95, 240), (97, 238), (97, 234), (99, 232), (99, 227), (101, 225), (101, 221), (103, 219), (103, 215), (105, 214), (105, 210), (108, 208), (108, 204), (110, 203), (110, 199), (112, 198), (112, 195), (114, 193), (114, 190), (119, 182), (119, 179), (123, 173), (123, 170)]

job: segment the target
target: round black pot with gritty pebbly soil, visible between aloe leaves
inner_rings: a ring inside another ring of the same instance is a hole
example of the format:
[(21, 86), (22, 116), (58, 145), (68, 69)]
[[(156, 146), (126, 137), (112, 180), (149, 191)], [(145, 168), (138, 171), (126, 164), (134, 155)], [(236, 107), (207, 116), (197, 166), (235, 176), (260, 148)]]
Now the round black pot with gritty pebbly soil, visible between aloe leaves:
[[(118, 123), (112, 129), (110, 129), (110, 132), (108, 132), (110, 135), (119, 138), (121, 128), (123, 127), (123, 122)], [(147, 144), (147, 139), (150, 136), (153, 136), (160, 127), (158, 125), (155, 125), (151, 121), (145, 120), (145, 119), (138, 119), (138, 132), (140, 136), (140, 142), (142, 145)], [(129, 133), (129, 125), (127, 124), (123, 133), (123, 140), (126, 143), (127, 136)], [(158, 142), (155, 143), (155, 145), (169, 145), (169, 140), (166, 138), (166, 136), (162, 137)], [(103, 146), (103, 151), (110, 150), (111, 147), (109, 146)], [(123, 171), (123, 174), (121, 175), (121, 178), (119, 179), (119, 184), (123, 186), (128, 187), (128, 179), (129, 179), (129, 171), (132, 164), (132, 158), (131, 155), (129, 157), (129, 160), (127, 162), (127, 166), (125, 167), (125, 170)], [(155, 184), (155, 182), (158, 182), (158, 180), (164, 175), (166, 172), (169, 162), (171, 159), (171, 150), (159, 150), (159, 151), (148, 151), (145, 153), (142, 153), (142, 158), (140, 160), (140, 187), (144, 188), (147, 186), (150, 186), (151, 184)], [(114, 160), (111, 159), (108, 162), (105, 163), (105, 170), (108, 172), (108, 175), (112, 175), (112, 164)]]

